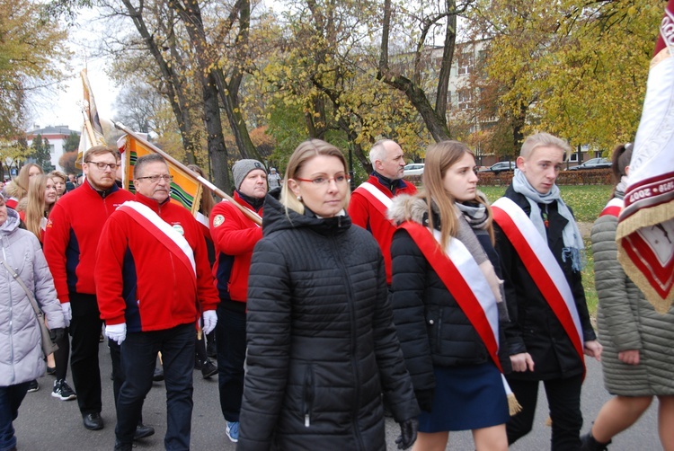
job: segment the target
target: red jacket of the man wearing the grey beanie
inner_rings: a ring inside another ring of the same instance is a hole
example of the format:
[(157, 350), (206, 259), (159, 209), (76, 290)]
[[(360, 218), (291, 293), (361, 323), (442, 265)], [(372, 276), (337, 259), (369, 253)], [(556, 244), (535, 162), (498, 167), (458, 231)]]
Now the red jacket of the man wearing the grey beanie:
[[(234, 199), (239, 205), (255, 211), (236, 191)], [(262, 216), (262, 208), (256, 213)], [(255, 243), (262, 239), (262, 227), (227, 200), (211, 210), (209, 221), (210, 235), (216, 247), (213, 276), (220, 299), (246, 302), (248, 271)]]

